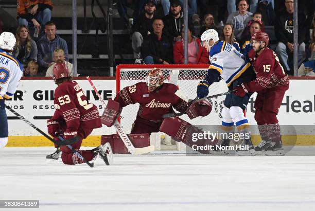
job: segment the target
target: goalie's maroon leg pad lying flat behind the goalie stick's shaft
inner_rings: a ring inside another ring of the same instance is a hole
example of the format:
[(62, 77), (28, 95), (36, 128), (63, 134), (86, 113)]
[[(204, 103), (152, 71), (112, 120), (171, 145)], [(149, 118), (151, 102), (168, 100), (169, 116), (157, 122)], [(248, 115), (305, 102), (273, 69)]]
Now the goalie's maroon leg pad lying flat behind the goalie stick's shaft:
[[(150, 146), (150, 135), (148, 133), (129, 134), (128, 137), (130, 138), (130, 141), (135, 148)], [(121, 138), (119, 137), (119, 135), (116, 134), (102, 135), (101, 145), (104, 145), (105, 143), (110, 143), (113, 153), (130, 154), (124, 142), (122, 142)]]

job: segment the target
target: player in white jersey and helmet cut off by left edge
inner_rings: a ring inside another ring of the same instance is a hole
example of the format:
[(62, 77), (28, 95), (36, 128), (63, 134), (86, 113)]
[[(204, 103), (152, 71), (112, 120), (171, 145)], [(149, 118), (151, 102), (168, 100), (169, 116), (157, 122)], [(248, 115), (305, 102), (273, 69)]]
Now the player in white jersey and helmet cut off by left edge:
[(15, 42), (13, 33), (0, 34), (0, 148), (7, 145), (9, 136), (5, 100), (13, 96), (23, 75), (22, 65), (11, 55)]

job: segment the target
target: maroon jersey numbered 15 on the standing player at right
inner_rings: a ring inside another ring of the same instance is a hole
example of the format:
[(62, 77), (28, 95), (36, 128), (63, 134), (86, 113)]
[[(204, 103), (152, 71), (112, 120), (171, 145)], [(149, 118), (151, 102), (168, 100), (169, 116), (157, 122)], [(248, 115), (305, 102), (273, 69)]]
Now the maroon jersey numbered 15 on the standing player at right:
[(278, 90), (289, 89), (289, 77), (273, 50), (265, 48), (261, 54), (256, 55), (256, 52), (252, 49), (248, 56), (256, 72), (255, 80), (247, 83), (251, 92), (273, 87)]

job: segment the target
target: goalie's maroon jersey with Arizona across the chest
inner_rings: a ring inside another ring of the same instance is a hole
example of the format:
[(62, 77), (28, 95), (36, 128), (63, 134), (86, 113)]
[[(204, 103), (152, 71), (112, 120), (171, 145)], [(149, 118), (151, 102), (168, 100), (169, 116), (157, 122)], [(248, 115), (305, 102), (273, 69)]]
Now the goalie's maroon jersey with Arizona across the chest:
[(164, 114), (172, 112), (172, 107), (179, 112), (187, 109), (187, 102), (175, 94), (177, 90), (177, 85), (163, 83), (149, 93), (147, 84), (139, 82), (120, 90), (114, 100), (119, 102), (121, 107), (138, 102), (138, 116), (152, 122), (161, 122)]

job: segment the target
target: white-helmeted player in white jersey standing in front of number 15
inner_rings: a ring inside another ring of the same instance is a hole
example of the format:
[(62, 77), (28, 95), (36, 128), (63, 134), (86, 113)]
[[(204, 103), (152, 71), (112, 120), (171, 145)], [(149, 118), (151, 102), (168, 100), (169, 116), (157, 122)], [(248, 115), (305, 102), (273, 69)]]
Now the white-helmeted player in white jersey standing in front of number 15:
[[(209, 94), (209, 86), (214, 82), (223, 79), (229, 87), (229, 91), (244, 81), (255, 79), (255, 72), (249, 62), (243, 59), (237, 49), (224, 41), (219, 41), (218, 32), (209, 29), (203, 32), (201, 44), (209, 52), (211, 65), (204, 80), (197, 86), (197, 96), (203, 98)], [(235, 94), (228, 94), (224, 100), (222, 109), (222, 129), (227, 132), (234, 131), (234, 124), (237, 127), (238, 134), (249, 134), (249, 122), (244, 116), (243, 110), (246, 109), (249, 98), (253, 93), (247, 93), (244, 97), (238, 97)], [(248, 137), (248, 136), (247, 136)], [(229, 146), (229, 139), (222, 139), (221, 145)], [(249, 146), (249, 150), (238, 151), (239, 155), (255, 155), (251, 139), (242, 138), (241, 146)]]

